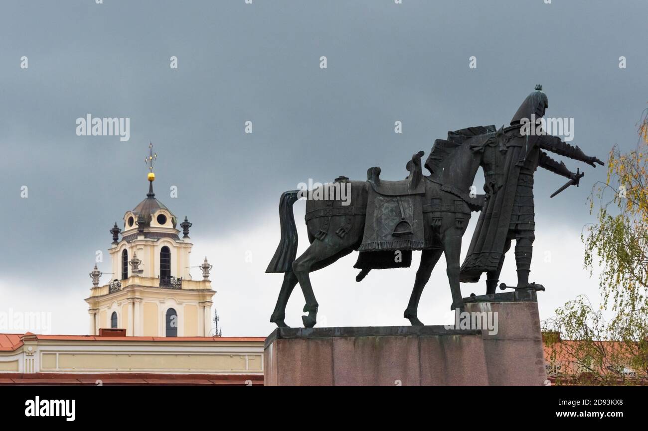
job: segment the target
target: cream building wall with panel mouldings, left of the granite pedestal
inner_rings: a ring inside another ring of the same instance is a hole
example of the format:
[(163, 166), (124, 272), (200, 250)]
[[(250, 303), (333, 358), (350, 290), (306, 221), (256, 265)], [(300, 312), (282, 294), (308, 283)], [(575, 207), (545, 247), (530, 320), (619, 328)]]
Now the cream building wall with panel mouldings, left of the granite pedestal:
[[(143, 340), (137, 337), (34, 339), (0, 351), (3, 373), (263, 373), (263, 338)], [(56, 336), (51, 336), (56, 338)]]

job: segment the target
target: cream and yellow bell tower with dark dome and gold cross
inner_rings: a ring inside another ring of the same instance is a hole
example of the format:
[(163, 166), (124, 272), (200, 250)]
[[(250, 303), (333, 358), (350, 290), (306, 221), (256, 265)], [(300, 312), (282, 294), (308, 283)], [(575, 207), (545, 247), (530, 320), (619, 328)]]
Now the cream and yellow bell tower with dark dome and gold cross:
[[(192, 226), (178, 219), (153, 191), (157, 154), (149, 144), (148, 193), (123, 217), (123, 230), (111, 228), (111, 281), (99, 285), (97, 266), (90, 273), (93, 287), (89, 305), (89, 335), (102, 328), (126, 329), (133, 337), (209, 337), (212, 297), (207, 258), (201, 265), (203, 280), (189, 273)], [(120, 239), (121, 235), (121, 239)]]

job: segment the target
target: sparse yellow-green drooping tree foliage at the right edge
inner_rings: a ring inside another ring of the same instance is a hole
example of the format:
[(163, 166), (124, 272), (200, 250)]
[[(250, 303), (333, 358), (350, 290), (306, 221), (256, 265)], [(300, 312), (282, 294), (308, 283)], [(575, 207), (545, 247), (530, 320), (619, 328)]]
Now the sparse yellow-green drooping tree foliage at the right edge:
[(648, 378), (648, 110), (639, 135), (635, 151), (612, 148), (607, 182), (590, 196), (597, 221), (581, 238), (585, 267), (590, 274), (600, 270), (600, 306), (578, 296), (544, 324), (554, 334), (545, 342), (550, 362), (561, 364), (558, 384), (646, 384)]

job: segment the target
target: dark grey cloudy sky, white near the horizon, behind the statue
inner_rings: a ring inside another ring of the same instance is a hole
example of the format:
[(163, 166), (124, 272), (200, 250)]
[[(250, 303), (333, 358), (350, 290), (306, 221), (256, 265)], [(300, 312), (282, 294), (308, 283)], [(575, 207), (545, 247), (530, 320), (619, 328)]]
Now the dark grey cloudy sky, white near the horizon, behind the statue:
[[(194, 223), (192, 264), (205, 254), (214, 264), (224, 335), (267, 335), (281, 276), (263, 271), (281, 192), (309, 178), (364, 179), (370, 166), (400, 179), (411, 154), (448, 130), (508, 124), (537, 83), (548, 116), (574, 118), (572, 144), (601, 159), (614, 144), (631, 149), (648, 102), (646, 16), (641, 0), (3, 1), (0, 311), (50, 311), (52, 332), (85, 333), (95, 250), (108, 256), (108, 230), (145, 197), (153, 142), (157, 197)], [(88, 113), (129, 117), (130, 140), (77, 137), (75, 120)], [(579, 235), (605, 168), (564, 161), (586, 172), (580, 188), (549, 199), (565, 179), (536, 176), (531, 279), (548, 287), (543, 318), (597, 293)], [(295, 205), (299, 225), (303, 210)], [(353, 262), (313, 277), (327, 324), (406, 323), (415, 269), (358, 285)], [(443, 323), (450, 304), (444, 267), (421, 300), (426, 323)], [(463, 287), (472, 291), (483, 286)], [(295, 290), (289, 324), (301, 322), (301, 306)]]

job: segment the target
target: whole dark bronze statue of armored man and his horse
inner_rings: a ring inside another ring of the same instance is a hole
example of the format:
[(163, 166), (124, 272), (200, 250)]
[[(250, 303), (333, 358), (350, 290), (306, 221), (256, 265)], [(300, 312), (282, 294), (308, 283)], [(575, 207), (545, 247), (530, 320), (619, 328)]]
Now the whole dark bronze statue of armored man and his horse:
[[(358, 251), (354, 265), (360, 269), (360, 282), (372, 269), (410, 267), (411, 253), (421, 250), (410, 302), (404, 318), (412, 325), (422, 325), (417, 309), (422, 291), (435, 264), (445, 254), (446, 273), (452, 294), (452, 310), (463, 310), (459, 282), (477, 282), (487, 272), (487, 293), (502, 269), (503, 255), (516, 239), (518, 287), (528, 283), (528, 268), (533, 243), (533, 171), (542, 166), (570, 178), (578, 184), (583, 173), (572, 173), (564, 164), (551, 160), (548, 149), (594, 166), (602, 162), (586, 157), (559, 138), (522, 136), (524, 115), (542, 118), (548, 107), (546, 95), (537, 87), (518, 109), (511, 127), (478, 126), (448, 132), (437, 139), (422, 172), (419, 151), (406, 165), (404, 180), (380, 178), (380, 168), (369, 168), (367, 181), (338, 177), (318, 190), (290, 190), (279, 199), (281, 241), (266, 272), (283, 272), (283, 284), (270, 322), (286, 327), (288, 298), (299, 283), (306, 304), (302, 322), (305, 327), (317, 323), (318, 302), (310, 283), (310, 272), (329, 266), (353, 251)], [(484, 172), (485, 194), (474, 192), (473, 181), (479, 168)], [(564, 186), (564, 188), (566, 188)], [(343, 199), (343, 191), (347, 198)], [(561, 190), (559, 190), (561, 191)], [(305, 221), (310, 245), (297, 258), (297, 227), (292, 206), (307, 197)], [(319, 197), (316, 199), (316, 197)], [(459, 265), (461, 239), (472, 212), (481, 211), (470, 243), (469, 254)], [(519, 255), (519, 258), (518, 258)], [(525, 272), (526, 271), (526, 272)], [(502, 287), (505, 287), (503, 285)]]

